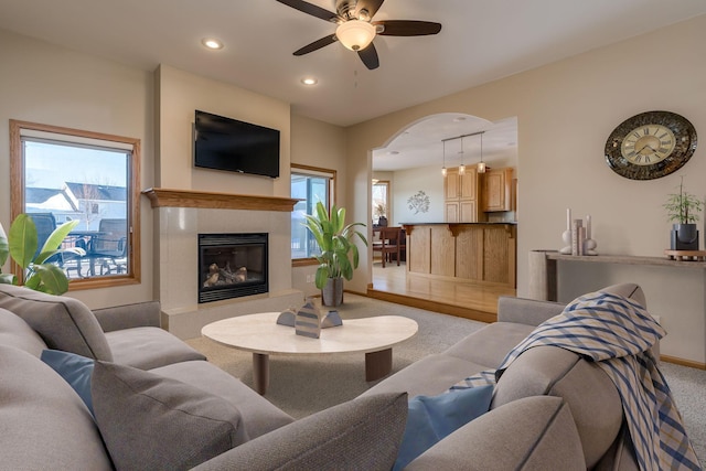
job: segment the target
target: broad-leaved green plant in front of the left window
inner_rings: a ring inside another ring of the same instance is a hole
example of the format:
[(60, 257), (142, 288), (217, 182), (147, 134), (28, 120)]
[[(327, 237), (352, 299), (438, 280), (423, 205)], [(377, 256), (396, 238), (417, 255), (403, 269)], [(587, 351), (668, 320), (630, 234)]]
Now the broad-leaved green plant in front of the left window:
[(60, 248), (78, 221), (71, 221), (56, 227), (36, 257), (34, 254), (39, 238), (36, 226), (30, 216), (20, 214), (10, 226), (9, 237), (0, 224), (0, 283), (18, 285), (19, 280), (14, 275), (2, 272), (2, 266), (10, 256), (25, 274), (25, 287), (50, 295), (63, 295), (68, 291), (68, 278), (64, 270), (57, 264), (46, 260), (64, 253), (85, 255), (85, 250), (78, 247)]

